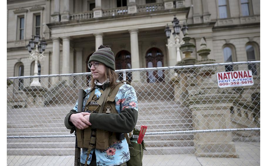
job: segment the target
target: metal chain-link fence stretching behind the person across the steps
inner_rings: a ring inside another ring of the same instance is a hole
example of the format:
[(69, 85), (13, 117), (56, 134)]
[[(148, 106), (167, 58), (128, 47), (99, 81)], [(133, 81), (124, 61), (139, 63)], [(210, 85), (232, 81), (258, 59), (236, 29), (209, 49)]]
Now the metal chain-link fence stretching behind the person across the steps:
[[(259, 61), (116, 72), (136, 90), (136, 127), (148, 126), (143, 165), (260, 165)], [(74, 164), (64, 118), (90, 75), (7, 78), (7, 165)]]

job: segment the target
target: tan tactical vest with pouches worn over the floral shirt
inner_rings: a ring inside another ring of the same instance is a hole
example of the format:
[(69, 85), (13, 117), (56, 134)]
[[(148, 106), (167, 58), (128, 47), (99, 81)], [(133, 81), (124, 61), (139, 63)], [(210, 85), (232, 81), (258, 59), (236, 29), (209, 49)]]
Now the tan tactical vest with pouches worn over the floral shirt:
[[(124, 84), (123, 82), (118, 82), (112, 89), (110, 87), (107, 87), (99, 99), (94, 98), (95, 89), (91, 91), (91, 94), (85, 104), (85, 111), (91, 111), (92, 113), (118, 113), (115, 107), (114, 100), (116, 94), (119, 91), (119, 88), (123, 84)], [(102, 106), (102, 104), (104, 105)], [(76, 131), (77, 131), (78, 147), (88, 148), (91, 138), (94, 138), (92, 137), (91, 126), (83, 130), (80, 130), (76, 127)], [(109, 132), (101, 129), (96, 129), (95, 138), (96, 138), (95, 148), (99, 150), (105, 150), (109, 146), (118, 142), (115, 132)]]

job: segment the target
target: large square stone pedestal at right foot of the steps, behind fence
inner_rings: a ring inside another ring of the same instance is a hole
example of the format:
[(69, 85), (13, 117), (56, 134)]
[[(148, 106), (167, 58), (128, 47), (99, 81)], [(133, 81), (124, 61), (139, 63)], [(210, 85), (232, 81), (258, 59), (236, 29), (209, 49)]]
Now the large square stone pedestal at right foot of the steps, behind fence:
[[(231, 128), (230, 107), (236, 94), (194, 95), (187, 99), (195, 130)], [(236, 158), (231, 132), (194, 134), (197, 157)]]

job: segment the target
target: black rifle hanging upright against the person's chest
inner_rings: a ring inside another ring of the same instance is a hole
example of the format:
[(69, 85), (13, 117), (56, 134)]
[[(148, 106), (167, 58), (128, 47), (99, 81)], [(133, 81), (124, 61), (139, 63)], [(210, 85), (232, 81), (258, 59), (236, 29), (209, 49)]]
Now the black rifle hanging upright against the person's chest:
[[(77, 112), (82, 112), (82, 106), (83, 106), (83, 100), (86, 92), (83, 89), (79, 89), (78, 94), (78, 108)], [(78, 147), (78, 141), (77, 141), (77, 134), (75, 130), (75, 159), (74, 159), (74, 166), (80, 166), (80, 158), (81, 158), (81, 148)]]

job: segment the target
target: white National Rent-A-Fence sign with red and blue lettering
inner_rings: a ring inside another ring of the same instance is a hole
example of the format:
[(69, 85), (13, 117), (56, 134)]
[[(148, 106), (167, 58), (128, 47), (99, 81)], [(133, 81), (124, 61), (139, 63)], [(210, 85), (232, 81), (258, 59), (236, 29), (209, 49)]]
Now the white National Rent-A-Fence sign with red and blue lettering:
[(254, 84), (251, 70), (218, 72), (217, 81), (219, 88), (250, 86)]

